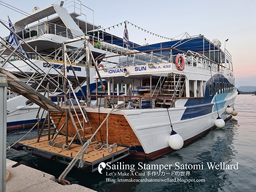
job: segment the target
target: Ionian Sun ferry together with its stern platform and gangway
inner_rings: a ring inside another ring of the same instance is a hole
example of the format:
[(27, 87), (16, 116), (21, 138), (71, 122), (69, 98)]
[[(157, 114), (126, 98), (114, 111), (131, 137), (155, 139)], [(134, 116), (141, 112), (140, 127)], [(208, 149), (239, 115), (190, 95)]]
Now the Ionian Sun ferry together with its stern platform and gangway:
[[(103, 37), (104, 32), (99, 33)], [(90, 94), (87, 82), (86, 105), (79, 102), (73, 83), (65, 75), (59, 74), (68, 85), (64, 96), (53, 95), (65, 97), (65, 102), (54, 103), (0, 68), (7, 75), (10, 89), (47, 111), (48, 121), (43, 122), (41, 129), (38, 127), (38, 137), (15, 143), (14, 149), (69, 163), (69, 170), (77, 166), (95, 171), (101, 162), (113, 163), (128, 155), (159, 158), (215, 126), (223, 127), (224, 121), (237, 115), (234, 103), (238, 91), (231, 54), (221, 49), (217, 39), (210, 41), (204, 35), (196, 35), (133, 46), (122, 53), (116, 51), (101, 57), (93, 55), (90, 36), (83, 39), (87, 77), (94, 66), (93, 78), (103, 88)], [(79, 38), (69, 40), (77, 41)], [(123, 44), (121, 38), (118, 41)], [(54, 83), (53, 86), (58, 88)], [(93, 98), (96, 102), (91, 105)]]

